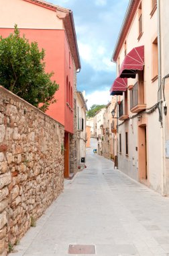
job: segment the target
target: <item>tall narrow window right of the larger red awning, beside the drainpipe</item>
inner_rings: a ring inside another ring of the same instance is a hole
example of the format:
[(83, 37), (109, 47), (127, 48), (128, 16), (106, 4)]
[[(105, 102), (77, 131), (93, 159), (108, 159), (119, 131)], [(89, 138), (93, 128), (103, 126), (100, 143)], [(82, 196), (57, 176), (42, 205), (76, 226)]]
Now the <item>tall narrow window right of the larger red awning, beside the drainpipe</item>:
[(158, 38), (152, 43), (152, 82), (158, 78)]

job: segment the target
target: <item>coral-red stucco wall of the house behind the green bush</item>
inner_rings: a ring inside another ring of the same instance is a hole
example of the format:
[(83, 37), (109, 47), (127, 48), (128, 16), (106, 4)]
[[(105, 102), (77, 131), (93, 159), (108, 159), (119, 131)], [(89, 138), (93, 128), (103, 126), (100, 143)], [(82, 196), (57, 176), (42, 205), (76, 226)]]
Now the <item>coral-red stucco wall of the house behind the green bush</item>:
[[(12, 31), (13, 29), (0, 28), (3, 37)], [(20, 29), (20, 32), (25, 34), (30, 42), (38, 42), (40, 49), (45, 49), (46, 71), (54, 71), (52, 79), (59, 84), (59, 90), (55, 94), (57, 101), (50, 105), (46, 114), (64, 125), (66, 131), (73, 133), (73, 110), (66, 104), (66, 77), (73, 88), (74, 70), (64, 30)]]

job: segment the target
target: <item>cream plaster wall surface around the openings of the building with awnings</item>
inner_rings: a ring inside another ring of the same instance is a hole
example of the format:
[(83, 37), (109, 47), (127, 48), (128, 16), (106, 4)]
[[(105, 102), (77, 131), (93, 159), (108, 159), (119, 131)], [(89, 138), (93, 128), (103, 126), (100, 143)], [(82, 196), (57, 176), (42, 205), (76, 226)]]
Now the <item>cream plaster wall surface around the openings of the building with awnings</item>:
[[(167, 1), (167, 0), (166, 0)], [(138, 37), (138, 12), (135, 13), (135, 18), (131, 24), (131, 28), (127, 34), (127, 53), (134, 47), (144, 45), (144, 102), (147, 104), (147, 108), (150, 108), (158, 102), (158, 79), (152, 82), (152, 42), (158, 34), (157, 26), (157, 10), (152, 18), (150, 13), (152, 11), (152, 1), (142, 0), (142, 16), (143, 16), (143, 34), (142, 37), (137, 40)], [(167, 12), (166, 12), (167, 13)], [(167, 14), (166, 14), (167, 15)], [(166, 27), (167, 30), (167, 27)], [(123, 62), (124, 47), (121, 48), (119, 54), (120, 66)], [(135, 79), (128, 79), (128, 85), (133, 85), (137, 82)], [(123, 98), (123, 97), (122, 97)], [(128, 115), (132, 117), (135, 115), (131, 113), (129, 106), (129, 91), (128, 91)], [(121, 133), (122, 140), (122, 153), (119, 154), (119, 169), (129, 174), (134, 179), (139, 179), (138, 174), (138, 154), (136, 149), (139, 148), (138, 140), (138, 127), (146, 125), (147, 134), (147, 171), (148, 171), (148, 186), (152, 187), (158, 192), (162, 189), (161, 180), (161, 168), (162, 168), (162, 154), (161, 154), (161, 128), (158, 121), (158, 109), (151, 115), (142, 113), (141, 121), (137, 121), (137, 117), (133, 119), (133, 131), (131, 129), (131, 122), (125, 121), (125, 124), (119, 126), (119, 133)], [(119, 121), (119, 124), (123, 121)], [(128, 132), (128, 148), (129, 154), (125, 155), (125, 132)], [(134, 158), (134, 160), (133, 160)]]

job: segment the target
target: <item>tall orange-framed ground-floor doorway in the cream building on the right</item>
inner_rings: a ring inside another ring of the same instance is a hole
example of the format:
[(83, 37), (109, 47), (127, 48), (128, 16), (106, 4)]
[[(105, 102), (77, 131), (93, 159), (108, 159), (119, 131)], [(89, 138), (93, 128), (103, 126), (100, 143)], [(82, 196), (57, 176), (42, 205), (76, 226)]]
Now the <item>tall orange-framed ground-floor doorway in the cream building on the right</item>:
[(138, 127), (138, 170), (139, 181), (148, 180), (147, 168), (147, 129), (146, 125)]

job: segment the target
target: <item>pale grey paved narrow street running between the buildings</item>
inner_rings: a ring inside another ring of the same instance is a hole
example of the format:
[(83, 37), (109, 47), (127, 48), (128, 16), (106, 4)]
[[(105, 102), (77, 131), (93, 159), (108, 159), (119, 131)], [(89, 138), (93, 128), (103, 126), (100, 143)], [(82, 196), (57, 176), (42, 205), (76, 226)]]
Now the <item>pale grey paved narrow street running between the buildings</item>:
[(95, 245), (99, 256), (169, 255), (168, 212), (169, 198), (89, 148), (87, 168), (66, 181), (64, 193), (9, 255), (66, 256), (69, 245)]

